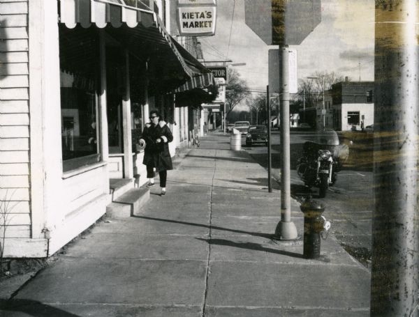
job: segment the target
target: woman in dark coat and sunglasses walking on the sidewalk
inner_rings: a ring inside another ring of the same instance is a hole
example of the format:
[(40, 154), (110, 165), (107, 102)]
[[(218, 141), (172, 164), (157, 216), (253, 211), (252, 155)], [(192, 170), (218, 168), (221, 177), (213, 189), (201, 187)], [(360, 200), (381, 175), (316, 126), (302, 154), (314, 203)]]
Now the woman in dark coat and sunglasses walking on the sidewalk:
[(146, 123), (140, 145), (145, 146), (142, 164), (147, 167), (147, 187), (154, 185), (154, 169), (159, 172), (161, 196), (166, 194), (168, 170), (173, 169), (169, 152), (169, 142), (173, 141), (172, 132), (156, 110), (150, 111), (150, 123)]

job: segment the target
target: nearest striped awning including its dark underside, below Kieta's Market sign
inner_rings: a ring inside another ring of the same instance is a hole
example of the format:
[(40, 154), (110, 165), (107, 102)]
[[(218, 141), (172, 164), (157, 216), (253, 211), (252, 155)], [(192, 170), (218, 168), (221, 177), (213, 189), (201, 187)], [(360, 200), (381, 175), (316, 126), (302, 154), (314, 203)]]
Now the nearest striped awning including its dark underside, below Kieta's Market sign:
[(187, 65), (153, 10), (126, 6), (118, 0), (60, 0), (59, 22), (68, 29), (79, 29), (78, 34), (92, 26), (104, 29), (133, 56), (149, 63), (148, 71), (155, 80), (150, 84), (156, 90), (170, 91), (200, 75), (200, 70)]

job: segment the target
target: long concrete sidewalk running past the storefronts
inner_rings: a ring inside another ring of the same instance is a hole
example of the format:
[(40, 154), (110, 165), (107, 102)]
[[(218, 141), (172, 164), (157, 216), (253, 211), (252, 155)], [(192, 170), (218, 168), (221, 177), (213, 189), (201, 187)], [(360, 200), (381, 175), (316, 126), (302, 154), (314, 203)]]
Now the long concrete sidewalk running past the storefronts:
[[(71, 244), (0, 316), (369, 316), (369, 272), (332, 238), (319, 261), (270, 235), (280, 192), (229, 139), (209, 135), (134, 217)], [(293, 201), (293, 221), (303, 219)]]

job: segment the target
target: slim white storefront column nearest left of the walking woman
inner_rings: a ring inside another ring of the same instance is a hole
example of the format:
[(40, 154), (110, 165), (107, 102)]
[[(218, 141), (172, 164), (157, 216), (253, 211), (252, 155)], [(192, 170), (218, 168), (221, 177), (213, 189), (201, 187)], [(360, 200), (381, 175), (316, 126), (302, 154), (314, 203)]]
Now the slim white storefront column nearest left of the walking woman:
[(125, 55), (125, 95), (122, 100), (122, 128), (124, 129), (124, 178), (133, 178), (133, 145), (131, 139), (131, 91), (129, 82), (129, 52)]

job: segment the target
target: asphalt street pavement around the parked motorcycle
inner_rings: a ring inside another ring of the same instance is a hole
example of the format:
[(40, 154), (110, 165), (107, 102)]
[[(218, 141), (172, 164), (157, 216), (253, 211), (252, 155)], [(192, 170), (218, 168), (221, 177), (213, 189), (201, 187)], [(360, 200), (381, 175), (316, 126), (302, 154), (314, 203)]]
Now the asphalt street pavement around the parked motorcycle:
[[(352, 134), (354, 143), (350, 148), (348, 162), (337, 173), (337, 183), (330, 187), (323, 199), (318, 199), (318, 189), (308, 190), (297, 176), (297, 159), (302, 155), (305, 141), (314, 139), (314, 132), (291, 132), (291, 195), (302, 201), (311, 194), (325, 206), (325, 217), (332, 222), (332, 233), (340, 244), (366, 268), (371, 268), (372, 258), (372, 210), (374, 208), (371, 146), (365, 146), (362, 137), (370, 134)], [(346, 137), (348, 137), (346, 135)], [(348, 143), (347, 139), (341, 140)], [(244, 138), (242, 139), (244, 144)], [(369, 155), (365, 148), (369, 149)], [(266, 146), (244, 146), (256, 162), (267, 169)], [(281, 179), (281, 150), (279, 134), (272, 135), (272, 177)], [(360, 162), (360, 164), (357, 164)]]

